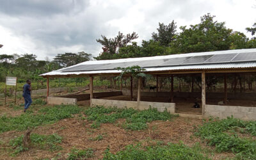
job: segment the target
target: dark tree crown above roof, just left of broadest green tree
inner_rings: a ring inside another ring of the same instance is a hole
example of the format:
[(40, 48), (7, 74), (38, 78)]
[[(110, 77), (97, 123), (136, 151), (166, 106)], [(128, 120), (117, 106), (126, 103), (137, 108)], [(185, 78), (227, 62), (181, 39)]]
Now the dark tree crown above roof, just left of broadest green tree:
[(152, 39), (156, 42), (159, 42), (160, 45), (168, 47), (170, 43), (174, 40), (176, 35), (176, 22), (172, 20), (170, 24), (164, 25), (159, 23), (159, 28), (157, 28), (158, 33), (152, 33)]

